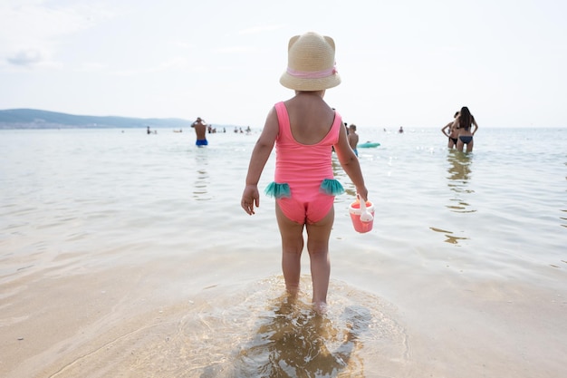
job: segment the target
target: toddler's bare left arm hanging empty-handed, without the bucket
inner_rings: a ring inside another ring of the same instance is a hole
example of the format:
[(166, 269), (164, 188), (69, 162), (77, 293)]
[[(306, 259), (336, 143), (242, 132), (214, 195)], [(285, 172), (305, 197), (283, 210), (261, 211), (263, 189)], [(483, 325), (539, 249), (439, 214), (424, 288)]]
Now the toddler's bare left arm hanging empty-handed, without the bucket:
[(245, 209), (245, 212), (252, 215), (254, 214), (254, 207), (260, 206), (260, 193), (258, 192), (258, 181), (264, 170), (265, 163), (268, 161), (272, 150), (274, 149), (274, 142), (277, 134), (280, 131), (279, 123), (277, 121), (277, 114), (275, 108), (272, 108), (266, 117), (264, 130), (260, 134), (258, 141), (256, 141), (250, 163), (248, 165), (248, 173), (246, 174), (246, 186), (242, 193), (242, 200), (240, 206)]

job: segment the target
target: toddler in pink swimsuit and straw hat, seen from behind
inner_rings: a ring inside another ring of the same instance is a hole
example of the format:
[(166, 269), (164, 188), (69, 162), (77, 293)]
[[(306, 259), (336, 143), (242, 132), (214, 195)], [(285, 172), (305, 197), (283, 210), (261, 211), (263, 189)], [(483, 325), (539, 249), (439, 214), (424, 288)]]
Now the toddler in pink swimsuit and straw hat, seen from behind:
[(272, 150), (276, 149), (274, 182), (265, 193), (275, 197), (275, 217), (282, 237), (282, 268), (291, 296), (299, 293), (303, 229), (312, 274), (312, 304), (324, 312), (331, 274), (329, 237), (334, 222), (333, 201), (344, 192), (332, 171), (332, 147), (343, 170), (360, 195), (368, 189), (342, 124), (341, 115), (323, 97), (341, 83), (335, 68), (335, 44), (316, 33), (293, 36), (288, 44), (287, 70), (280, 83), (295, 92), (268, 112), (252, 151), (241, 207), (249, 215), (260, 206), (258, 181)]

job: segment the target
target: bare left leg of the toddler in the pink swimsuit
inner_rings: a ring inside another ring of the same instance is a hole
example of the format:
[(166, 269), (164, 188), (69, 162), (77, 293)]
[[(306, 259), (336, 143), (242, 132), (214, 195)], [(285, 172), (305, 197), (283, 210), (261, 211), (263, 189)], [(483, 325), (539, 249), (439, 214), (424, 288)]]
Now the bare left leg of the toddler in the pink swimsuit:
[(277, 202), (275, 204), (275, 218), (282, 236), (282, 270), (285, 289), (289, 294), (295, 296), (299, 292), (299, 279), (302, 270), (303, 225), (285, 217)]

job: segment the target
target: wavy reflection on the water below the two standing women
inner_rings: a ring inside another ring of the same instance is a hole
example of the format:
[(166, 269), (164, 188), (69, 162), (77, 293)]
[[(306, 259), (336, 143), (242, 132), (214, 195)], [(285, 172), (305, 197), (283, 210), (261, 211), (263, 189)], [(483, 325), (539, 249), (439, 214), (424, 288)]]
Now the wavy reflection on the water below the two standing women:
[(449, 163), (447, 186), (451, 189), (455, 197), (449, 199), (447, 205), (451, 211), (458, 213), (473, 213), (475, 209), (470, 208), (470, 204), (466, 201), (466, 197), (475, 192), (468, 188), (468, 181), (471, 176), (471, 166), (473, 164), (472, 154), (464, 153), (457, 150), (448, 150), (447, 161)]

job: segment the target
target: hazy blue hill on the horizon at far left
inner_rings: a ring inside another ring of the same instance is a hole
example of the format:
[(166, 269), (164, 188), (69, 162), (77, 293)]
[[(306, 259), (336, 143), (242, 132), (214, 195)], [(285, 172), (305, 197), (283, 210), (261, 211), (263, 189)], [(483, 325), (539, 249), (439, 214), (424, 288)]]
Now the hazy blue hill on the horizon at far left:
[(192, 121), (177, 118), (129, 118), (72, 115), (35, 109), (0, 111), (0, 129), (86, 129), (86, 128), (173, 128), (187, 127)]

